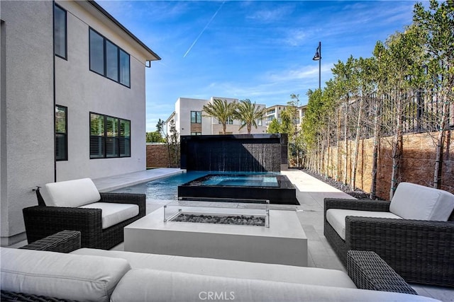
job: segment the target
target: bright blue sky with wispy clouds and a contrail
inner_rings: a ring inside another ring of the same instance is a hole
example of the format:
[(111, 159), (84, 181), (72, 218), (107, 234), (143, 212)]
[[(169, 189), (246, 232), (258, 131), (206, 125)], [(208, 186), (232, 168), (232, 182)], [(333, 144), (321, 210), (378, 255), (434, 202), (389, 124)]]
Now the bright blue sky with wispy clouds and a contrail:
[(331, 68), (372, 57), (377, 41), (410, 25), (416, 1), (97, 1), (161, 57), (145, 69), (146, 131), (178, 98), (307, 103)]

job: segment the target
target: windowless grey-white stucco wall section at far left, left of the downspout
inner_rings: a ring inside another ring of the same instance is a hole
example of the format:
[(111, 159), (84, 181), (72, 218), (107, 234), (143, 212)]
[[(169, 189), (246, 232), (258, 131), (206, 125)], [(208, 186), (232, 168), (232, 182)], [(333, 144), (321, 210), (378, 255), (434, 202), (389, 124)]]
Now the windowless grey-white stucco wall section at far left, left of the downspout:
[(33, 187), (54, 180), (52, 8), (0, 1), (1, 245), (24, 238), (22, 209), (38, 204)]

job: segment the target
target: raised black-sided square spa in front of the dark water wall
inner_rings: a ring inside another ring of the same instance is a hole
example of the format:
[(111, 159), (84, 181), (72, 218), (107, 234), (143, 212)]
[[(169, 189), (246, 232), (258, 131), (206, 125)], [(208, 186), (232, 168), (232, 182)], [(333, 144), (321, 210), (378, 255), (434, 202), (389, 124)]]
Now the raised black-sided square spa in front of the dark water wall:
[(271, 204), (299, 204), (285, 175), (209, 174), (178, 186), (178, 197), (268, 199)]

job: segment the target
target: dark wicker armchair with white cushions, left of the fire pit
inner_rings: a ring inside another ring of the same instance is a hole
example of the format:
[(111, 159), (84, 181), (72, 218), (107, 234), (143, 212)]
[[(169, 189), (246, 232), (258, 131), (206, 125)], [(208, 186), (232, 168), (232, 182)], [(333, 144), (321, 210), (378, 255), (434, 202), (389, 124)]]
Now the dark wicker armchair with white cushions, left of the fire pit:
[(82, 233), (84, 248), (113, 248), (123, 228), (145, 216), (145, 194), (99, 193), (89, 178), (37, 190), (38, 206), (23, 209), (28, 243), (63, 230)]

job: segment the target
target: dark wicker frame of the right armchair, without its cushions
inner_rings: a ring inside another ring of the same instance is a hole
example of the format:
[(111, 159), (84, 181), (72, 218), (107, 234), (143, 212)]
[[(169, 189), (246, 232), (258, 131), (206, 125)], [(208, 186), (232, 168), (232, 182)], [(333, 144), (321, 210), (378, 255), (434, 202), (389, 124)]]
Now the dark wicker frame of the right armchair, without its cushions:
[(448, 221), (345, 218), (345, 240), (326, 220), (328, 209), (389, 211), (389, 202), (324, 199), (324, 235), (341, 262), (348, 250), (374, 251), (407, 282), (454, 286), (454, 211)]

